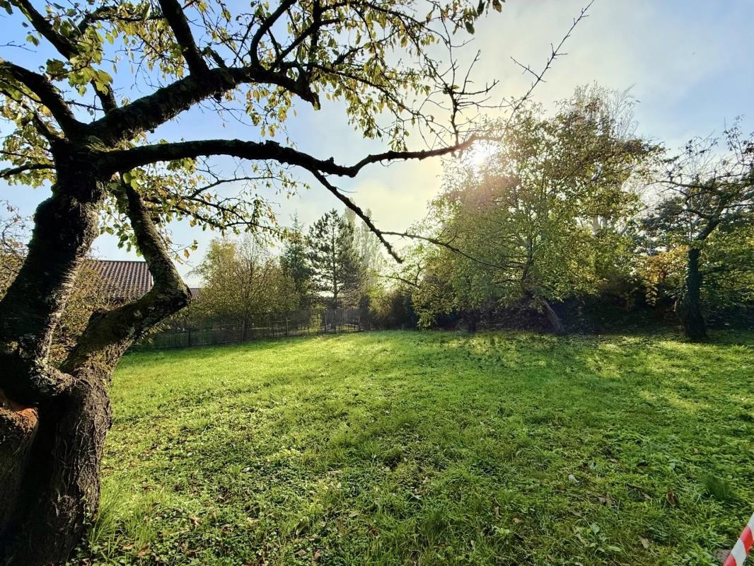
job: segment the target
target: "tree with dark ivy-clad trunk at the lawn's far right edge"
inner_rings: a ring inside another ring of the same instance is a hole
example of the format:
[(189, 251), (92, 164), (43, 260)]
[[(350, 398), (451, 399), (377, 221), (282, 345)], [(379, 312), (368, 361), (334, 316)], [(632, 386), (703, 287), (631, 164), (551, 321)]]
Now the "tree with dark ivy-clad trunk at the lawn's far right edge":
[[(706, 248), (719, 244), (726, 235), (728, 242), (731, 235), (733, 239), (745, 238), (746, 226), (754, 221), (754, 134), (747, 139), (735, 124), (723, 132), (722, 140), (710, 137), (689, 141), (681, 155), (665, 160), (664, 165), (660, 180), (663, 198), (645, 218), (644, 227), (651, 252), (678, 246), (685, 249), (685, 276), (676, 312), (686, 337), (703, 340)], [(719, 238), (713, 238), (716, 234)], [(710, 264), (710, 275), (726, 269), (724, 250), (719, 245), (716, 254), (721, 263)]]

